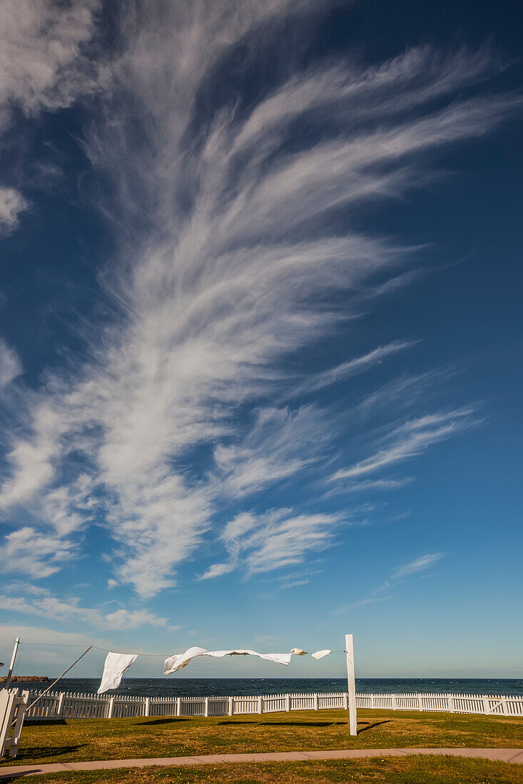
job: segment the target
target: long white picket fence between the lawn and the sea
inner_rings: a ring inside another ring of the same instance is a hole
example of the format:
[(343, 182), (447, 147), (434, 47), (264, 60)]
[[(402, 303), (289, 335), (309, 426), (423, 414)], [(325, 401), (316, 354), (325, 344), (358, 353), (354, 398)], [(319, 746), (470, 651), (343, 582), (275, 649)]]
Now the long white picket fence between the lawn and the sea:
[[(16, 693), (18, 689), (13, 690)], [(29, 703), (41, 691), (31, 691)], [(523, 716), (523, 697), (481, 694), (357, 694), (357, 708)], [(125, 697), (48, 692), (26, 719), (108, 719), (144, 716), (236, 716), (289, 710), (348, 708), (344, 692), (248, 697)]]

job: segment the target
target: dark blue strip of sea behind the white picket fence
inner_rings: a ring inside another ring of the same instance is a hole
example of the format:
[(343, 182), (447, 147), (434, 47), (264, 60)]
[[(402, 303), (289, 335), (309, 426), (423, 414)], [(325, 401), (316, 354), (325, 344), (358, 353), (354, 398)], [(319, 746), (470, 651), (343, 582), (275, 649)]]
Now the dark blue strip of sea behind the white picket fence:
[[(63, 678), (53, 691), (92, 694), (98, 678)], [(49, 685), (49, 684), (47, 684)], [(25, 687), (27, 688), (27, 687)], [(46, 688), (34, 684), (33, 688)], [(346, 691), (345, 678), (126, 678), (111, 694), (137, 697), (219, 697)], [(523, 695), (523, 678), (357, 678), (360, 692)]]

